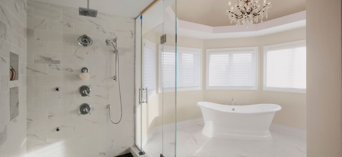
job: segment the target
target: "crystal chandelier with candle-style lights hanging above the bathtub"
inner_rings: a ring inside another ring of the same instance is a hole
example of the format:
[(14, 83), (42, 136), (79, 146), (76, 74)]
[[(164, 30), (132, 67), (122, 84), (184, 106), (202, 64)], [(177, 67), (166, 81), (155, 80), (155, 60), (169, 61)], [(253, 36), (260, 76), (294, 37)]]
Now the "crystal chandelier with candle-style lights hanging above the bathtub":
[(263, 5), (259, 4), (259, 0), (239, 0), (239, 4), (231, 6), (231, 2), (228, 3), (230, 10), (226, 11), (231, 23), (234, 21), (236, 25), (251, 25), (253, 21), (257, 23), (259, 19), (263, 22), (263, 18), (267, 19), (267, 11), (271, 8), (271, 2), (266, 3), (264, 0)]

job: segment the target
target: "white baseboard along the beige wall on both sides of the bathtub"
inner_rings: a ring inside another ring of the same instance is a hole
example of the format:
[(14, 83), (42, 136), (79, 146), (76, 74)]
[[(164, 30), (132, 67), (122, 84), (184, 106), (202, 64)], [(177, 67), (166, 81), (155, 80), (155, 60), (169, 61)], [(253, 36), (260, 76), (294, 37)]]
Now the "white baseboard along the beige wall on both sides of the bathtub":
[[(204, 123), (203, 118), (196, 118), (196, 119), (190, 119), (186, 121), (177, 122), (177, 128), (195, 125), (199, 123)], [(157, 133), (161, 133), (163, 130), (164, 131), (174, 130), (174, 128), (175, 128), (175, 123), (166, 124), (164, 125), (164, 127), (162, 127), (161, 125), (154, 127), (153, 130), (147, 135), (147, 138), (143, 140), (143, 146), (146, 145), (147, 142), (150, 139), (152, 139), (152, 137), (156, 135)], [(302, 130), (298, 128), (293, 128), (293, 127), (289, 127), (285, 125), (272, 123), (269, 129), (306, 138), (306, 130)]]

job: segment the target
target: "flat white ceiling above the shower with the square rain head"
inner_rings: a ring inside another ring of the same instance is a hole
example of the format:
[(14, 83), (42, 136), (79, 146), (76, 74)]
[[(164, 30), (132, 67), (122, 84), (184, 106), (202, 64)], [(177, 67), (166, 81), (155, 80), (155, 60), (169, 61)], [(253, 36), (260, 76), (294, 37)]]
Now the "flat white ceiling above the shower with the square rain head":
[[(87, 7), (87, 0), (36, 0), (45, 3), (69, 6)], [(136, 18), (153, 2), (153, 0), (90, 0), (90, 8), (100, 13)]]

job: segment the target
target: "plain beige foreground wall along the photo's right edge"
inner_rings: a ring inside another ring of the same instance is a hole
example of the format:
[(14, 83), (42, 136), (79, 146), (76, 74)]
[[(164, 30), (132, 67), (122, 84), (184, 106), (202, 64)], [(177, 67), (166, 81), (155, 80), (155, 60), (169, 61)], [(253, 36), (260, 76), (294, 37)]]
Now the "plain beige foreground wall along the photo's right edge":
[(342, 156), (341, 0), (327, 2), (306, 1), (308, 157)]

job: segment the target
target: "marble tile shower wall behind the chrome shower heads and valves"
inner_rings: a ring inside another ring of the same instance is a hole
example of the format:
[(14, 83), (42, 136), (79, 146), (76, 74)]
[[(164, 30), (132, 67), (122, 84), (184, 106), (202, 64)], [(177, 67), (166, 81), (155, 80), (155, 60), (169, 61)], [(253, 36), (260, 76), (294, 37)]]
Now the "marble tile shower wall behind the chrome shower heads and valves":
[[(29, 157), (114, 157), (129, 152), (134, 144), (134, 22), (101, 11), (93, 18), (78, 15), (78, 8), (27, 2)], [(91, 46), (78, 45), (83, 34), (92, 38)], [(119, 90), (112, 78), (115, 54), (105, 39), (116, 36), (123, 115), (119, 124), (112, 124), (107, 105), (118, 121)], [(87, 81), (79, 77), (82, 67), (90, 71)], [(81, 85), (91, 87), (90, 97), (78, 94)], [(82, 103), (92, 106), (91, 115), (78, 113)], [(61, 130), (55, 132), (56, 127)]]

